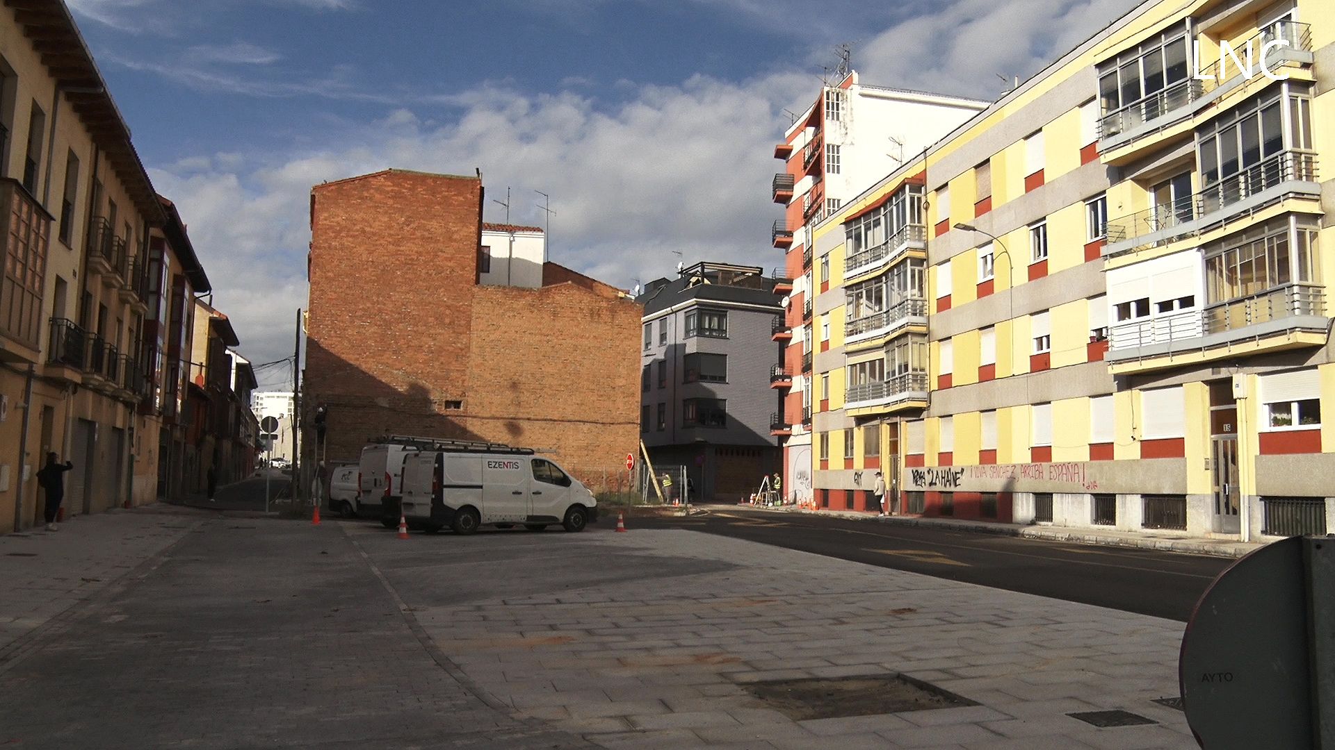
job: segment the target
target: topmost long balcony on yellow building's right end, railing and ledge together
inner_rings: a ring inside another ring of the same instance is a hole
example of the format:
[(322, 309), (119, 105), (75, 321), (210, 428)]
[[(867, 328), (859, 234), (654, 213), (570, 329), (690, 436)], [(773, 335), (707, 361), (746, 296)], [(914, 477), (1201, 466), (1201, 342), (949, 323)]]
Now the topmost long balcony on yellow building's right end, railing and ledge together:
[[(1107, 153), (1140, 137), (1175, 125), (1193, 116), (1230, 92), (1242, 89), (1258, 77), (1275, 75), (1276, 68), (1288, 64), (1314, 63), (1312, 35), (1308, 24), (1280, 20), (1259, 31), (1251, 39), (1231, 45), (1238, 51), (1242, 67), (1227, 57), (1227, 64), (1216, 59), (1197, 75), (1147, 93), (1117, 109), (1104, 112), (1099, 119), (1099, 151)], [(1188, 73), (1192, 63), (1188, 61)], [(1247, 91), (1251, 91), (1250, 88)]]

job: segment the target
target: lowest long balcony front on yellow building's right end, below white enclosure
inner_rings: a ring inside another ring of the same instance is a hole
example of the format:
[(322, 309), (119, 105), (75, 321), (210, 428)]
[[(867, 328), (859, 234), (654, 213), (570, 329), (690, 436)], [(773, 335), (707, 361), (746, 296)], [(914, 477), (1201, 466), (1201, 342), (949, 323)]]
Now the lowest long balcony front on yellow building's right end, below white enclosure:
[(1244, 344), (1266, 351), (1320, 346), (1330, 324), (1326, 315), (1322, 287), (1286, 284), (1204, 310), (1115, 324), (1107, 359), (1115, 372), (1125, 372), (1169, 364), (1152, 360), (1159, 356), (1176, 363), (1235, 356), (1244, 354)]

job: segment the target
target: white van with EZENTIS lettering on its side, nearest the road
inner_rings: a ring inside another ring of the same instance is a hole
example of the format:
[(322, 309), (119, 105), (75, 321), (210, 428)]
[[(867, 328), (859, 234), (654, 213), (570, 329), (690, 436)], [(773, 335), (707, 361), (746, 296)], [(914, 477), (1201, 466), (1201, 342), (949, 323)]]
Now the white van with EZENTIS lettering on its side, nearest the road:
[(578, 479), (527, 448), (421, 451), (403, 462), (403, 518), (414, 528), (473, 534), (482, 524), (583, 531), (598, 500)]

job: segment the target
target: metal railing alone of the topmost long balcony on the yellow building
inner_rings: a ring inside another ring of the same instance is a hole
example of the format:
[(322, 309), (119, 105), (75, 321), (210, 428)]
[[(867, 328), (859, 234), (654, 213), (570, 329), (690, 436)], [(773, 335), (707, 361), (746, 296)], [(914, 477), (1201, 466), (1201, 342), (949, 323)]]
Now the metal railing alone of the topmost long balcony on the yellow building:
[[(1262, 59), (1262, 51), (1266, 49), (1266, 44), (1271, 41), (1287, 41), (1288, 45), (1287, 48), (1272, 47), (1266, 57)], [(1234, 45), (1234, 49), (1238, 51), (1238, 55), (1244, 60), (1244, 64), (1247, 60), (1247, 51), (1251, 51), (1254, 63), (1248, 75), (1255, 79), (1258, 75), (1264, 75), (1262, 71), (1271, 69), (1271, 67), (1280, 60), (1283, 55), (1295, 51), (1310, 52), (1311, 47), (1312, 35), (1308, 24), (1280, 20), (1262, 29), (1256, 33), (1256, 36), (1248, 39), (1247, 41)], [(1230, 59), (1230, 61), (1232, 59)], [(1191, 111), (1199, 109), (1199, 107), (1188, 109), (1188, 105), (1210, 97), (1210, 93), (1240, 76), (1243, 76), (1243, 71), (1239, 69), (1238, 65), (1228, 64), (1222, 69), (1219, 60), (1216, 60), (1211, 65), (1203, 68), (1197, 76), (1175, 81), (1167, 88), (1148, 93), (1136, 101), (1121, 107), (1120, 109), (1104, 113), (1104, 116), (1099, 119), (1099, 137), (1115, 137), (1128, 131), (1133, 131), (1147, 123), (1153, 123), (1167, 115), (1176, 113), (1179, 117), (1168, 119), (1164, 124), (1180, 119), (1181, 116), (1187, 116)], [(1200, 107), (1204, 104), (1206, 103), (1202, 103)]]

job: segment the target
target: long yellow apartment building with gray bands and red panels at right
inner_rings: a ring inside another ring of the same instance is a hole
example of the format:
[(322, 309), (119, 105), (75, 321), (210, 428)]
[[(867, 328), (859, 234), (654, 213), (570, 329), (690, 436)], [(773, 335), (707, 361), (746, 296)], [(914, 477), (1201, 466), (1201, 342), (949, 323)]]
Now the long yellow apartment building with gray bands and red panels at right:
[(1332, 75), (1319, 0), (1147, 1), (828, 218), (817, 503), (884, 466), (912, 514), (1324, 532)]

